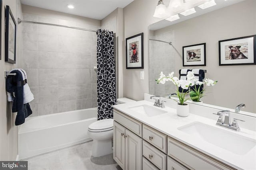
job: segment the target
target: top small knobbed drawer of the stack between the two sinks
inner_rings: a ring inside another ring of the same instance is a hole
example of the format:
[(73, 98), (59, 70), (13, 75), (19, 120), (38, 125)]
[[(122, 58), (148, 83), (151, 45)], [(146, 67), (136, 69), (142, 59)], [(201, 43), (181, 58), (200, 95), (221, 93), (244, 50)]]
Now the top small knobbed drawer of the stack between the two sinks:
[(164, 135), (144, 124), (142, 127), (142, 135), (143, 135), (143, 139), (146, 140), (148, 143), (154, 145), (156, 148), (158, 148), (162, 152), (167, 153), (166, 151), (167, 135)]

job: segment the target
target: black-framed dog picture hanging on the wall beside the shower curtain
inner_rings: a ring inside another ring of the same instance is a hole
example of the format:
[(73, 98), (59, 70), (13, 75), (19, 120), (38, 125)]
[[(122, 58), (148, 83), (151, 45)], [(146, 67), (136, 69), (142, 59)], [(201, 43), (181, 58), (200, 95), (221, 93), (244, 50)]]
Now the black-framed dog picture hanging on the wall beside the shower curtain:
[(126, 38), (126, 69), (143, 68), (143, 33)]

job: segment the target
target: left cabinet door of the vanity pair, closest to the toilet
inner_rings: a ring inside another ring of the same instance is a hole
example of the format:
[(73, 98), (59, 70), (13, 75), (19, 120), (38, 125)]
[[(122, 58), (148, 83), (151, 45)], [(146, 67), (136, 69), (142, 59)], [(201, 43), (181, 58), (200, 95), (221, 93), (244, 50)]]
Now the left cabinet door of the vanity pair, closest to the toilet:
[(114, 121), (113, 134), (113, 158), (118, 165), (124, 170), (125, 166), (125, 128)]

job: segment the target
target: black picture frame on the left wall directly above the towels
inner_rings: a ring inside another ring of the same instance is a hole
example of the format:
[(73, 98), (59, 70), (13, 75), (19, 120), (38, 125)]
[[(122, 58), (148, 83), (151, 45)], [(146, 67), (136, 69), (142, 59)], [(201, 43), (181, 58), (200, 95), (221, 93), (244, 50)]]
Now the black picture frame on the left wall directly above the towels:
[(16, 63), (16, 21), (12, 15), (10, 6), (5, 10), (5, 61)]

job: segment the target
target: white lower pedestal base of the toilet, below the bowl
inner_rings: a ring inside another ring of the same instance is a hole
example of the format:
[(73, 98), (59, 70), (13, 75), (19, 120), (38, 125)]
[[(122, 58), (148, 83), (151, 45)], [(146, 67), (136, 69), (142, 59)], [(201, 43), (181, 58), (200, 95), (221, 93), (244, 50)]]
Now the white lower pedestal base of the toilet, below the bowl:
[(92, 143), (92, 156), (100, 157), (113, 153), (112, 139), (108, 140), (93, 140)]

